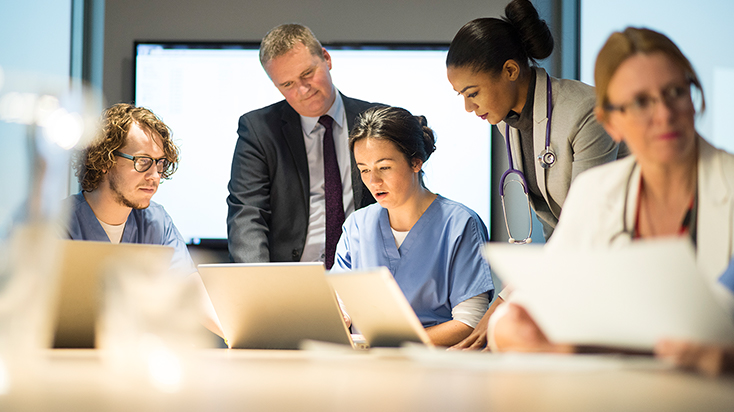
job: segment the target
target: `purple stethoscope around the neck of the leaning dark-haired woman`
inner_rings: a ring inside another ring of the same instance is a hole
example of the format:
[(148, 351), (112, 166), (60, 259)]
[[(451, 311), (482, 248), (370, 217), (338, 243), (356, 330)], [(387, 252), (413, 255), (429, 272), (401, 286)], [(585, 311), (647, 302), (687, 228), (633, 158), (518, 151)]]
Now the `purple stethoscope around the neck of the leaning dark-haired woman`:
[[(551, 150), (550, 147), (550, 123), (551, 123), (551, 115), (553, 113), (553, 104), (552, 104), (552, 98), (553, 93), (551, 92), (551, 84), (550, 84), (550, 76), (546, 73), (546, 86), (547, 86), (547, 104), (546, 104), (546, 117), (548, 118), (548, 121), (545, 125), (545, 148), (537, 157), (538, 163), (540, 164), (540, 167), (543, 169), (550, 169), (555, 163), (556, 163), (556, 154)], [(507, 149), (507, 160), (509, 162), (509, 168), (505, 171), (505, 173), (502, 174), (502, 177), (500, 177), (500, 199), (502, 200), (502, 214), (505, 217), (505, 228), (507, 229), (507, 236), (509, 236), (508, 241), (510, 243), (518, 244), (518, 245), (524, 245), (527, 243), (531, 243), (533, 241), (532, 235), (533, 235), (533, 215), (532, 211), (530, 209), (530, 197), (528, 195), (528, 182), (525, 179), (525, 175), (522, 171), (515, 169), (515, 165), (512, 161), (512, 149), (510, 149), (510, 125), (505, 123), (505, 147)], [(525, 193), (525, 197), (528, 201), (528, 235), (525, 237), (525, 239), (515, 239), (512, 237), (512, 233), (510, 232), (510, 224), (507, 222), (507, 208), (505, 207), (505, 187), (508, 183), (511, 183), (516, 180), (510, 180), (509, 182), (506, 181), (507, 176), (511, 174), (516, 174), (520, 180), (517, 181), (520, 186), (522, 186), (522, 191)]]

